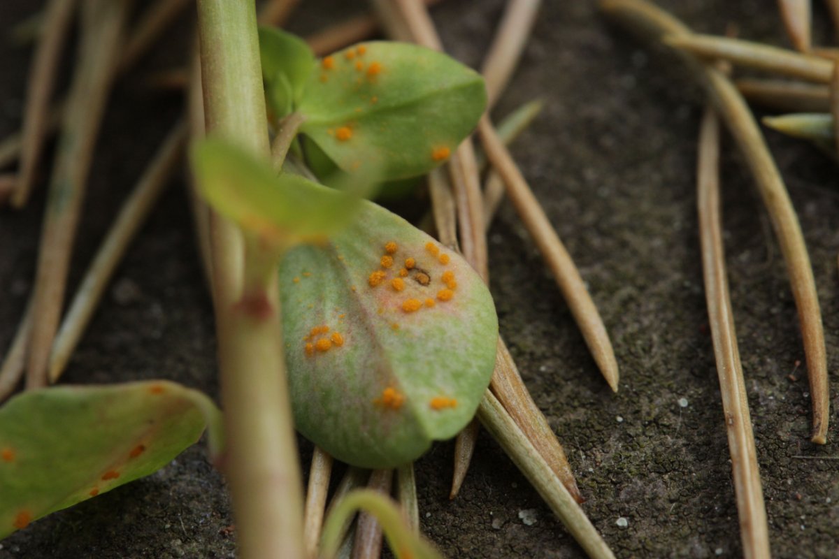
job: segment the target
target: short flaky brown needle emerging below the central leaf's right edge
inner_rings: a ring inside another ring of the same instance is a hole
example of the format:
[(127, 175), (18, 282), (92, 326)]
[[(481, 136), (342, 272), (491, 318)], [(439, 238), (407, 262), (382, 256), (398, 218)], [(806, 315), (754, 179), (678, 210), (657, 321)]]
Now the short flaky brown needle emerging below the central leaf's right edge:
[(577, 503), (582, 503), (585, 499), (582, 498), (580, 489), (577, 487), (571, 464), (568, 463), (568, 458), (565, 458), (565, 450), (551, 430), (548, 420), (524, 386), (519, 368), (513, 361), (507, 344), (504, 344), (504, 340), (500, 338), (498, 339), (498, 354), (495, 358), (495, 373), (492, 375), (492, 384), (489, 388), (519, 426), (524, 436), (548, 463), (551, 471), (565, 485), (568, 493)]

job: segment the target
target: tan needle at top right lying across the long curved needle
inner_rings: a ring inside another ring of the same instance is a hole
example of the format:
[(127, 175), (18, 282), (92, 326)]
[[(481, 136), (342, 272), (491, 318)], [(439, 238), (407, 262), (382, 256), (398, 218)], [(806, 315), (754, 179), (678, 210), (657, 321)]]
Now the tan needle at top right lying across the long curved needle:
[(743, 39), (701, 34), (672, 34), (665, 36), (663, 41), (664, 44), (702, 58), (727, 60), (735, 65), (822, 84), (830, 83), (833, 71), (831, 61), (819, 56), (800, 54)]

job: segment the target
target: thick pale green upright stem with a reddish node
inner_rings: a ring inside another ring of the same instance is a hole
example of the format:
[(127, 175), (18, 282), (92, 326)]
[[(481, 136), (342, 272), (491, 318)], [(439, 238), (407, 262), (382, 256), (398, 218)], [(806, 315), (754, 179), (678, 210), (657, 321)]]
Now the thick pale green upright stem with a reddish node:
[[(207, 132), (270, 158), (253, 0), (199, 0)], [(213, 285), (225, 411), (224, 470), (239, 556), (302, 557), (303, 495), (275, 274), (242, 292), (241, 236), (215, 216)], [(250, 256), (250, 255), (249, 255)], [(242, 266), (242, 261), (243, 266)]]

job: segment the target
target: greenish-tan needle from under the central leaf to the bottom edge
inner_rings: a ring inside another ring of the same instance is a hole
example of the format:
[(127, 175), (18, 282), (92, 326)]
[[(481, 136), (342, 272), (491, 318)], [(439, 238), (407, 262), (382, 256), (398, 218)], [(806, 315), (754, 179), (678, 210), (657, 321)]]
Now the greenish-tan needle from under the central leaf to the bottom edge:
[(591, 520), (571, 494), (561, 484), (559, 479), (534, 448), (527, 437), (519, 430), (519, 426), (507, 415), (501, 403), (487, 391), (477, 409), (477, 417), (487, 428), (492, 437), (513, 459), (524, 477), (539, 490), (539, 494), (550, 506), (550, 510), (559, 517), (571, 536), (580, 544), (588, 556), (595, 559), (614, 557), (612, 550), (597, 533)]

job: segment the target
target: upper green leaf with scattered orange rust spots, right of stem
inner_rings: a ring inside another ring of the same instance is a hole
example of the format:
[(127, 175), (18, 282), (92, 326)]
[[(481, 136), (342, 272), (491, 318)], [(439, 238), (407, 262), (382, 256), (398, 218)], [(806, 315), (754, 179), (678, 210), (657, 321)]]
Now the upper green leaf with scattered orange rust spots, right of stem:
[(413, 44), (362, 43), (327, 56), (296, 110), (342, 169), (406, 179), (443, 163), (477, 125), (483, 80), (446, 54)]

